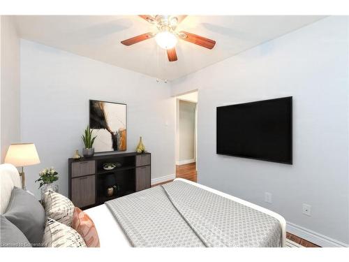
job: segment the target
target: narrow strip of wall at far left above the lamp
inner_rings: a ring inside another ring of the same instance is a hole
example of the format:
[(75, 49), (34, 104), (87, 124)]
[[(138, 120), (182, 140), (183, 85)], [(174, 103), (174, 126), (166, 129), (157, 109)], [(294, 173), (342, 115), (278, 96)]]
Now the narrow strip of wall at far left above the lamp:
[(20, 38), (12, 16), (1, 16), (1, 163), (20, 142)]

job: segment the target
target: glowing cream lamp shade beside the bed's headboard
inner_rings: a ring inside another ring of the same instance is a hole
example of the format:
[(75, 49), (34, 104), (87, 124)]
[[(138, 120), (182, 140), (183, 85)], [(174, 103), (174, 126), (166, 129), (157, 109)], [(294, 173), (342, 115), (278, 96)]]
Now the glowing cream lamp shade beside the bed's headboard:
[(33, 143), (12, 144), (8, 147), (5, 163), (12, 163), (17, 167), (31, 166), (40, 163), (40, 159)]

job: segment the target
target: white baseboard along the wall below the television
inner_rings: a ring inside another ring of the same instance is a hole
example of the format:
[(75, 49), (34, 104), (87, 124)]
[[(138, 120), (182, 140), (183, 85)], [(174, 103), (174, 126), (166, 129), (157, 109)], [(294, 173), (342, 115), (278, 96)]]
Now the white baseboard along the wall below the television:
[(316, 233), (315, 231), (311, 231), (310, 229), (292, 224), (290, 222), (287, 222), (286, 231), (299, 236), (299, 238), (308, 240), (309, 242), (312, 242), (320, 247), (349, 247), (349, 245), (346, 243), (334, 240), (333, 238), (329, 238), (326, 235)]

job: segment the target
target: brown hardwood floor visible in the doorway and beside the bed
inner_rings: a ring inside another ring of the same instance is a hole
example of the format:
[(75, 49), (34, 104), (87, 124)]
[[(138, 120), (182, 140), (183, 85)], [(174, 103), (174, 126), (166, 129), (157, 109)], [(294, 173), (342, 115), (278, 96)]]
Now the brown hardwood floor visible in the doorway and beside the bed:
[[(181, 177), (186, 180), (197, 182), (198, 174), (196, 172), (196, 163), (188, 163), (186, 165), (176, 166), (176, 177)], [(172, 182), (172, 180), (159, 183), (159, 184), (165, 184), (168, 182)], [(151, 187), (158, 186), (159, 184), (154, 184)], [(302, 245), (303, 247), (319, 247), (318, 245), (315, 245), (312, 242), (304, 240), (303, 238), (299, 238), (297, 235), (292, 235), (291, 233), (288, 233), (288, 232), (286, 233), (286, 238), (288, 238), (293, 242), (296, 242), (299, 245)]]

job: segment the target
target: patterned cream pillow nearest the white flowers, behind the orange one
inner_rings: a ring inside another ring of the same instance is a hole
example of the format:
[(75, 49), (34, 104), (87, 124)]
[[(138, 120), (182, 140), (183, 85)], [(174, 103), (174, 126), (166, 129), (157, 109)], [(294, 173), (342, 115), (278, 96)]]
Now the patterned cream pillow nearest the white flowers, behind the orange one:
[(49, 191), (47, 192), (45, 201), (47, 217), (50, 217), (67, 226), (71, 225), (71, 221), (73, 220), (74, 205), (68, 198), (54, 191)]

